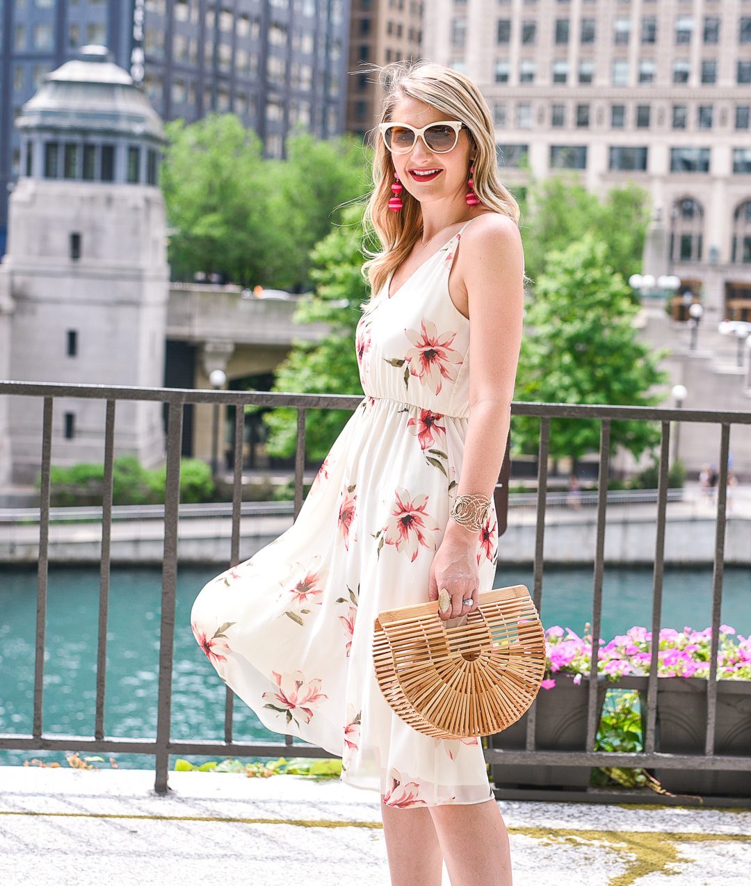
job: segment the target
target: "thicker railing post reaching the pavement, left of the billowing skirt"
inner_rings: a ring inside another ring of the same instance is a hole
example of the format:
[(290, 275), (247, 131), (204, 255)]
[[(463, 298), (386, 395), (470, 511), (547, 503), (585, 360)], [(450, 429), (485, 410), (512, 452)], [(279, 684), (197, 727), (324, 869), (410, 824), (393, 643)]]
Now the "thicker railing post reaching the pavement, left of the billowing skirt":
[(157, 794), (168, 791), (169, 737), (172, 721), (172, 657), (175, 648), (177, 591), (177, 519), (180, 508), (180, 455), (183, 443), (183, 401), (170, 400), (167, 420), (167, 480), (164, 488), (164, 559), (161, 569), (159, 635), (159, 702), (156, 727)]

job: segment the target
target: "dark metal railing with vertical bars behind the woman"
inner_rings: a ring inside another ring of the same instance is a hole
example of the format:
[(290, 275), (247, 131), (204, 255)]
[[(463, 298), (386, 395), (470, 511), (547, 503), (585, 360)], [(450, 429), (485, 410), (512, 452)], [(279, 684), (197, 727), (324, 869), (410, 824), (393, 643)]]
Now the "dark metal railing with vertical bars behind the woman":
[[(246, 405), (265, 407), (292, 407), (297, 409), (297, 449), (295, 456), (295, 486), (293, 516), (297, 517), (302, 504), (302, 479), (305, 454), (305, 421), (310, 408), (355, 409), (362, 398), (355, 396), (313, 394), (285, 394), (265, 392), (195, 391), (162, 388), (107, 387), (104, 385), (64, 385), (25, 382), (0, 382), (0, 396), (25, 396), (43, 399), (43, 430), (41, 486), (39, 509), (39, 560), (36, 599), (35, 633), (35, 685), (34, 718), (32, 734), (0, 734), (0, 748), (9, 750), (68, 750), (75, 747), (90, 752), (125, 752), (151, 754), (156, 760), (155, 789), (164, 793), (168, 789), (169, 757), (173, 754), (234, 755), (238, 757), (270, 757), (289, 752), (292, 739), (286, 742), (238, 742), (232, 734), (232, 711), (234, 696), (227, 690), (224, 711), (224, 739), (219, 741), (192, 740), (173, 741), (170, 737), (172, 705), (172, 672), (176, 611), (177, 575), (177, 522), (180, 491), (180, 456), (183, 436), (183, 408), (187, 403), (225, 404), (239, 407), (234, 432), (234, 482), (231, 503), (232, 533), (228, 565), (239, 562), (240, 517), (244, 505), (242, 492), (242, 448)], [(43, 731), (43, 685), (44, 641), (47, 614), (47, 579), (49, 530), (51, 521), (51, 448), (52, 418), (55, 398), (74, 397), (106, 401), (104, 438), (104, 482), (102, 520), (102, 547), (99, 578), (98, 651), (96, 714), (93, 736), (61, 736), (44, 734)], [(110, 547), (113, 522), (113, 462), (115, 410), (121, 400), (150, 400), (168, 404), (167, 480), (164, 504), (164, 557), (162, 565), (160, 664), (157, 730), (155, 739), (114, 738), (105, 735), (105, 691), (107, 611), (110, 583)], [(705, 770), (751, 770), (751, 757), (720, 756), (715, 754), (716, 704), (717, 704), (717, 651), (719, 648), (720, 613), (723, 601), (724, 540), (727, 506), (727, 473), (732, 424), (751, 425), (751, 413), (718, 412), (710, 410), (662, 409), (615, 406), (570, 406), (549, 403), (512, 404), (512, 414), (540, 419), (538, 453), (538, 486), (536, 493), (536, 545), (532, 596), (540, 610), (544, 579), (544, 531), (547, 503), (548, 451), (551, 420), (553, 418), (597, 419), (600, 422), (600, 446), (598, 476), (606, 478), (610, 460), (610, 431), (613, 421), (628, 419), (661, 424), (660, 472), (657, 490), (657, 533), (654, 550), (652, 633), (658, 636), (661, 628), (662, 579), (665, 548), (666, 507), (669, 500), (668, 468), (670, 423), (697, 422), (720, 424), (721, 442), (718, 463), (720, 477), (717, 486), (715, 562), (712, 582), (712, 630), (711, 657), (707, 686), (707, 732), (705, 754), (667, 754), (655, 751), (655, 723), (657, 717), (657, 660), (658, 645), (652, 646), (652, 661), (647, 679), (647, 710), (645, 747), (639, 753), (611, 753), (595, 751), (598, 729), (598, 660), (592, 657), (589, 680), (589, 706), (587, 718), (586, 750), (542, 751), (536, 750), (536, 705), (533, 704), (527, 721), (526, 750), (485, 750), (485, 758), (492, 764), (516, 764), (536, 766), (646, 766), (665, 769)], [(606, 486), (606, 485), (604, 485)], [(599, 637), (602, 620), (602, 588), (606, 532), (606, 505), (608, 494), (601, 488), (597, 498), (597, 542), (592, 588), (591, 633)], [(331, 754), (314, 745), (294, 743), (294, 752), (300, 757), (330, 757)]]

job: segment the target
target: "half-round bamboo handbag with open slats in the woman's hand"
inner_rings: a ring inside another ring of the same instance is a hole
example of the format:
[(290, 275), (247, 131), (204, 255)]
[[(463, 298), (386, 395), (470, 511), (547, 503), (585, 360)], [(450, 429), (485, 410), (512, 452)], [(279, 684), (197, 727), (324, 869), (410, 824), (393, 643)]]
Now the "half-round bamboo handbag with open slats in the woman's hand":
[(446, 627), (438, 602), (375, 621), (381, 692), (405, 723), (434, 738), (500, 732), (528, 710), (543, 680), (544, 631), (526, 587), (481, 594), (463, 621)]

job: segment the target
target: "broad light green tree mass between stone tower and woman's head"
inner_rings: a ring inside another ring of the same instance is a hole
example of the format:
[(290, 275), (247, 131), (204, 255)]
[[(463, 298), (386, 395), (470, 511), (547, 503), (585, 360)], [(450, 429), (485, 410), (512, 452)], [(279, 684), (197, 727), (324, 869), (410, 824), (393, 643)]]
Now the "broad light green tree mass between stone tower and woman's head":
[(363, 147), (349, 138), (287, 139), (286, 160), (233, 114), (167, 125), (162, 168), (173, 276), (221, 274), (243, 286), (301, 291), (309, 253), (365, 190)]

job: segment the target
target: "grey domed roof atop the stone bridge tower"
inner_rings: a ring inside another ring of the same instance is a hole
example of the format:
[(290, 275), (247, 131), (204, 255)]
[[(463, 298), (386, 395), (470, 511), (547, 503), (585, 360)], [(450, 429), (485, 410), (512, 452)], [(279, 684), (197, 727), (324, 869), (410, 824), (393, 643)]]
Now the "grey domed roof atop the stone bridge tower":
[(16, 127), (166, 141), (159, 114), (103, 46), (85, 46), (82, 58), (47, 74)]

